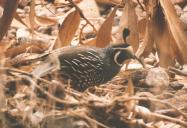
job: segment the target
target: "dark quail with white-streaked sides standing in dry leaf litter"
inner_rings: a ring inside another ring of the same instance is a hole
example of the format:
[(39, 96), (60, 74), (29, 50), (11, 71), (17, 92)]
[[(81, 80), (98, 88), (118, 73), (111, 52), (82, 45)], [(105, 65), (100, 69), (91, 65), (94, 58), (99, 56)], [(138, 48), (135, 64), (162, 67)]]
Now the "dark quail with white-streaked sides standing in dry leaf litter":
[(55, 71), (64, 83), (70, 82), (71, 87), (78, 91), (107, 83), (119, 73), (126, 60), (136, 59), (133, 48), (127, 43), (105, 48), (66, 46), (45, 56), (46, 61), (32, 73), (42, 77)]

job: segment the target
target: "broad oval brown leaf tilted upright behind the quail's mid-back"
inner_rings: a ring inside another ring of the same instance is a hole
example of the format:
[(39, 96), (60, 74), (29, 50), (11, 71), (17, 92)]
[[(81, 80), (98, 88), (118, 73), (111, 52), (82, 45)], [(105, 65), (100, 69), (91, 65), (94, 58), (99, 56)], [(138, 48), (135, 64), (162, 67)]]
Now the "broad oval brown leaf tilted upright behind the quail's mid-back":
[(60, 47), (69, 45), (80, 24), (80, 14), (78, 10), (71, 12), (64, 20), (59, 30)]

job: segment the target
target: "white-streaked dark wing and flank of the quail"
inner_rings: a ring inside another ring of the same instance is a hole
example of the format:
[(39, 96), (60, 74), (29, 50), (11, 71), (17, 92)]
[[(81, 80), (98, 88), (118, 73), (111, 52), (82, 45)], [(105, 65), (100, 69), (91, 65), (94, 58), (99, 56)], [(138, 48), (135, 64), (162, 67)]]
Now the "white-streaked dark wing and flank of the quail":
[(76, 86), (96, 85), (103, 82), (104, 50), (95, 47), (79, 47), (71, 53), (60, 54), (60, 74)]

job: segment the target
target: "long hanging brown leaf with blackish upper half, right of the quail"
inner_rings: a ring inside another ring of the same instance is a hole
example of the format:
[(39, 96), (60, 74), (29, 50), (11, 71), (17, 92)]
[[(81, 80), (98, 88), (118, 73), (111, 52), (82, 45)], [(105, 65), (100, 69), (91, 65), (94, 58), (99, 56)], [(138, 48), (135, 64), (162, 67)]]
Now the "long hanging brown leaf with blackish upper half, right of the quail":
[(173, 56), (172, 40), (170, 30), (164, 18), (164, 13), (160, 4), (155, 8), (155, 13), (152, 17), (152, 28), (156, 48), (159, 56), (159, 64), (161, 67), (167, 68), (175, 64), (175, 56)]

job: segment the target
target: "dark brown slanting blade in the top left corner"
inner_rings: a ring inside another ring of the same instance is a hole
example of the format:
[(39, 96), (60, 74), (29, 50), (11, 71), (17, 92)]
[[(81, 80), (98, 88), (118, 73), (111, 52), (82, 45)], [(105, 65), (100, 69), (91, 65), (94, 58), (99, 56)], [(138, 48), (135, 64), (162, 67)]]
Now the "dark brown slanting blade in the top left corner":
[(3, 36), (6, 34), (12, 19), (16, 13), (19, 0), (7, 0), (4, 6), (4, 13), (0, 19), (0, 41), (3, 39)]

